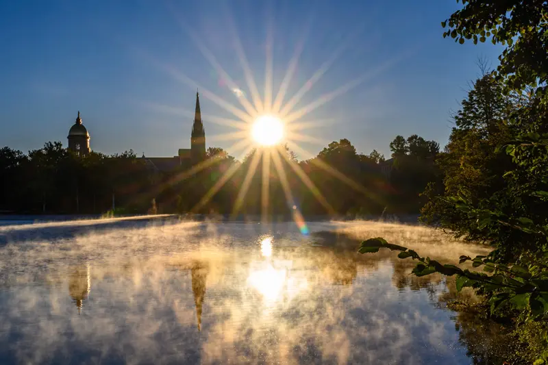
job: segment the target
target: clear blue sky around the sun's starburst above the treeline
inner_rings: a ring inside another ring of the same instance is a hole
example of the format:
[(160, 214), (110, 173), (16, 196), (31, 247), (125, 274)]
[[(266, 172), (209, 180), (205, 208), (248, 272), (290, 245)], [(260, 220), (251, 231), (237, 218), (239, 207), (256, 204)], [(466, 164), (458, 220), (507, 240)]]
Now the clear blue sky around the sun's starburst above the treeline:
[(269, 40), (274, 96), (303, 45), (284, 103), (332, 60), (295, 107), (343, 87), (301, 117), (317, 122), (300, 131), (314, 139), (299, 142), (312, 155), (348, 138), (361, 153), (377, 149), (388, 156), (397, 134), (443, 146), (450, 111), (479, 74), (477, 58), (496, 66), (501, 51), (490, 42), (443, 39), (440, 22), (457, 7), (454, 0), (3, 1), (0, 146), (26, 152), (49, 140), (66, 145), (80, 110), (95, 151), (175, 155), (190, 147), (199, 84), (206, 90), (206, 143), (229, 149), (238, 140), (214, 136), (237, 129), (211, 119), (238, 118), (207, 91), (243, 108), (203, 51), (251, 99), (237, 40), (262, 98)]

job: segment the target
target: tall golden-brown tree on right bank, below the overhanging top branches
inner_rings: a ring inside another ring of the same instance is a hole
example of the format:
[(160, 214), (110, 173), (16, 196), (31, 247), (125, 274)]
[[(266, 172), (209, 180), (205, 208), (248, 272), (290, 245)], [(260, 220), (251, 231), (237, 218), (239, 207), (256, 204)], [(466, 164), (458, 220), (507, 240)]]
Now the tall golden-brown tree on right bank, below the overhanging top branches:
[(501, 89), (501, 84), (486, 73), (472, 84), (462, 101), (449, 143), (436, 158), (443, 178), (424, 193), (428, 199), (421, 211), (424, 223), (440, 225), (469, 240), (485, 240), (473, 221), (446, 198), (460, 194), (477, 202), (493, 197), (506, 186), (503, 174), (513, 167), (511, 158), (496, 151), (510, 136), (506, 120), (513, 104), (501, 95)]

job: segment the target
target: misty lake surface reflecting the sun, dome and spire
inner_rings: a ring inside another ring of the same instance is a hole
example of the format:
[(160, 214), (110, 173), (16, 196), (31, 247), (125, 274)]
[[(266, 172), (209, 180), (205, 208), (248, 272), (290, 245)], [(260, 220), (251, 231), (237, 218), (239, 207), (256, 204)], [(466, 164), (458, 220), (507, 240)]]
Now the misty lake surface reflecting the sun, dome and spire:
[(356, 253), (375, 236), (453, 262), (484, 247), (388, 223), (308, 228), (171, 218), (0, 227), (0, 364), (496, 358), (492, 338), (467, 348), (446, 279), (412, 277), (412, 262), (388, 251)]

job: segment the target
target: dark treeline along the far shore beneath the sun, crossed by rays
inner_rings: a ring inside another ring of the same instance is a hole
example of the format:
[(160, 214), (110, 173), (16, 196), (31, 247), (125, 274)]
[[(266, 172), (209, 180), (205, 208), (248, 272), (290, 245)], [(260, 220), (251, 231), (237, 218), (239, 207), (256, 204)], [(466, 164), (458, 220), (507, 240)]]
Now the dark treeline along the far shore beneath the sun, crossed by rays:
[(0, 212), (18, 214), (219, 213), (371, 216), (417, 214), (438, 179), (439, 145), (397, 136), (393, 158), (358, 153), (347, 139), (298, 161), (286, 145), (253, 149), (242, 161), (218, 147), (197, 166), (158, 171), (133, 151), (79, 156), (61, 142), (0, 149)]

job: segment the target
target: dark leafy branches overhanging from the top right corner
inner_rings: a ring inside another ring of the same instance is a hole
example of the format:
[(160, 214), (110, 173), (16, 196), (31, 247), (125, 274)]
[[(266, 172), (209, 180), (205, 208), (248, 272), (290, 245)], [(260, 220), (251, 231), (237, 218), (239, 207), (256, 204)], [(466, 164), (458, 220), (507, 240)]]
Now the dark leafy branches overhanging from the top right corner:
[(506, 82), (506, 91), (542, 85), (536, 92), (545, 95), (548, 81), (548, 4), (545, 0), (458, 0), (463, 7), (442, 26), (443, 36), (463, 44), (491, 39), (506, 46), (499, 56), (497, 76)]

